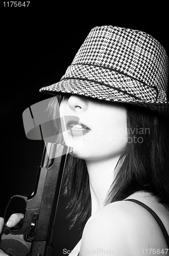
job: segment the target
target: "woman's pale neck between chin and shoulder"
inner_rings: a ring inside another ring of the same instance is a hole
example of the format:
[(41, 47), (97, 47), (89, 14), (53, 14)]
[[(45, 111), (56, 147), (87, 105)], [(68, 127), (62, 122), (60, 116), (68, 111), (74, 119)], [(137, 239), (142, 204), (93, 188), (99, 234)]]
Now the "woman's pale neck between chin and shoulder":
[(114, 170), (119, 160), (116, 158), (101, 161), (86, 161), (92, 200), (92, 214), (104, 206), (109, 188), (114, 181)]

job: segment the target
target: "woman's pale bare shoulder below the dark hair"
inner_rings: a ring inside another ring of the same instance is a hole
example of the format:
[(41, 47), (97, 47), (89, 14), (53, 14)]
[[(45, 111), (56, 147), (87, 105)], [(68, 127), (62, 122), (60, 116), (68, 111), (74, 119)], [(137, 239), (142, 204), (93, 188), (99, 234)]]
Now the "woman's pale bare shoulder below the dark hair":
[(129, 201), (111, 203), (95, 212), (81, 243), (82, 255), (86, 250), (97, 250), (98, 255), (108, 250), (110, 255), (124, 255), (124, 251), (126, 255), (142, 255), (148, 248), (167, 248), (161, 229), (145, 208)]

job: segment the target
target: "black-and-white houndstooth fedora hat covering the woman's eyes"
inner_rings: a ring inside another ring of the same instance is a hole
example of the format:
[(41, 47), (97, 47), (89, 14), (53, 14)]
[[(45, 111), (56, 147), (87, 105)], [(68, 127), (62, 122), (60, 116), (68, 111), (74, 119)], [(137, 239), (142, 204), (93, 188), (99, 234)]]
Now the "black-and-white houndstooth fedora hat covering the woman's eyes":
[(127, 28), (91, 30), (60, 82), (41, 92), (71, 93), (168, 114), (168, 57), (151, 35)]

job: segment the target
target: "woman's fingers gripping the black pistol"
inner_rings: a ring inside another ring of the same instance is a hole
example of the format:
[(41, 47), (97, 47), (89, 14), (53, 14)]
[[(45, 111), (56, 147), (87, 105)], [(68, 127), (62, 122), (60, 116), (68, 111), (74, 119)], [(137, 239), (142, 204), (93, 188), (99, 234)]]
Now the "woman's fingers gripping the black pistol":
[[(9, 228), (14, 227), (15, 225), (17, 225), (21, 219), (23, 219), (24, 215), (23, 214), (13, 214), (11, 215), (11, 217), (9, 218), (8, 222), (7, 222), (7, 226)], [(4, 227), (4, 219), (0, 217), (0, 234), (3, 231), (3, 227)], [(4, 251), (2, 251), (0, 249), (0, 256), (7, 256), (8, 254), (6, 254)]]

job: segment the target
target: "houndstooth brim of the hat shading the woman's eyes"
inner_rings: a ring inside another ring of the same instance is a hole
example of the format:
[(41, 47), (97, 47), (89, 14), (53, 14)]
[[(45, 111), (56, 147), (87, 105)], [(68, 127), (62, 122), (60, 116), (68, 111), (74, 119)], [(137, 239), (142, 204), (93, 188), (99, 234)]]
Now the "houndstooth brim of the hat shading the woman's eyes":
[(70, 93), (92, 97), (101, 100), (134, 104), (150, 109), (163, 115), (169, 115), (169, 102), (147, 101), (133, 97), (133, 95), (121, 90), (107, 87), (106, 85), (81, 79), (64, 79), (60, 82), (43, 87), (40, 92), (57, 95), (59, 93)]

